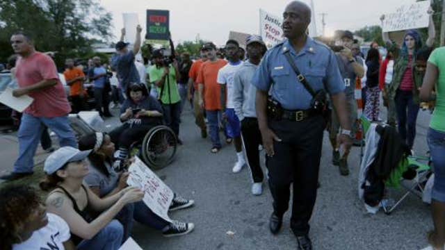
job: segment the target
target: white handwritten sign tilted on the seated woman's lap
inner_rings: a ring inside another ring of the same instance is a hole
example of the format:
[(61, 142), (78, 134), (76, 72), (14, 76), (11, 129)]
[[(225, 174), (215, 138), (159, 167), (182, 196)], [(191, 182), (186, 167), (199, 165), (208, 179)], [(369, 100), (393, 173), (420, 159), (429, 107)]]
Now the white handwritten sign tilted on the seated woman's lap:
[(156, 215), (168, 222), (168, 208), (173, 200), (173, 191), (150, 170), (142, 160), (136, 157), (129, 167), (128, 185), (140, 188), (145, 192), (143, 201)]

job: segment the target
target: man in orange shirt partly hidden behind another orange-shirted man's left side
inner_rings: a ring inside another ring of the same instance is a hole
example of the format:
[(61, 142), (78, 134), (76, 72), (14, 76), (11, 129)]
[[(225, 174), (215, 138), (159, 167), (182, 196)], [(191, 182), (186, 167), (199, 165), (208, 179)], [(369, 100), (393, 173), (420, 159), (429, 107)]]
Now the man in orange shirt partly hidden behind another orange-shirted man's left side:
[(202, 64), (207, 61), (207, 49), (201, 49), (201, 59), (196, 60), (192, 64), (190, 71), (188, 72), (188, 100), (193, 99), (193, 109), (195, 110), (195, 124), (201, 128), (201, 137), (207, 138), (207, 127), (204, 122), (204, 110), (202, 106), (199, 105), (198, 101), (200, 99), (197, 91), (197, 75), (200, 73)]

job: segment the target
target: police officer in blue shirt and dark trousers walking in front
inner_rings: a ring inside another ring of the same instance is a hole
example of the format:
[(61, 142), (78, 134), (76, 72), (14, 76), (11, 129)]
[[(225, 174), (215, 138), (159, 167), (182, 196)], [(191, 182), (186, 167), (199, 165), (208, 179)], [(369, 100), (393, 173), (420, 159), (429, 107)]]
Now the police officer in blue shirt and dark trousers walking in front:
[[(314, 108), (317, 107), (314, 97), (302, 84), (302, 76), (314, 91), (325, 89), (330, 94), (341, 124), (338, 141), (346, 149), (352, 143), (350, 122), (343, 79), (334, 53), (305, 33), (311, 22), (310, 8), (300, 1), (292, 1), (283, 17), (282, 28), (287, 40), (268, 51), (252, 79), (257, 87), (257, 117), (273, 197), (269, 226), (274, 234), (280, 231), (293, 182), (291, 228), (298, 249), (312, 249), (308, 222), (316, 200), (325, 119), (316, 111), (319, 109)], [(300, 70), (299, 77), (286, 53)], [(269, 90), (273, 101), (268, 101)]]

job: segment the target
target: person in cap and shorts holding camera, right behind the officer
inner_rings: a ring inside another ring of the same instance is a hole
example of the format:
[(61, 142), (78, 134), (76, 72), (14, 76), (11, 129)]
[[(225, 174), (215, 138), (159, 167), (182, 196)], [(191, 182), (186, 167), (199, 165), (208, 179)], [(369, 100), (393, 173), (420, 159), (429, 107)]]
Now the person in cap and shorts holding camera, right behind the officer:
[[(355, 79), (357, 76), (364, 76), (363, 60), (359, 56), (353, 56), (352, 48), (354, 44), (354, 35), (350, 31), (339, 31), (338, 44), (341, 44), (340, 50), (335, 53), (339, 65), (340, 74), (345, 85), (346, 110), (348, 110), (348, 121), (352, 128), (352, 134), (357, 131), (357, 101), (355, 100)], [(349, 174), (347, 150), (340, 156), (339, 145), (337, 144), (337, 135), (339, 133), (340, 123), (337, 110), (332, 110), (331, 122), (329, 128), (329, 139), (332, 145), (332, 164), (339, 166), (340, 174), (347, 176)]]

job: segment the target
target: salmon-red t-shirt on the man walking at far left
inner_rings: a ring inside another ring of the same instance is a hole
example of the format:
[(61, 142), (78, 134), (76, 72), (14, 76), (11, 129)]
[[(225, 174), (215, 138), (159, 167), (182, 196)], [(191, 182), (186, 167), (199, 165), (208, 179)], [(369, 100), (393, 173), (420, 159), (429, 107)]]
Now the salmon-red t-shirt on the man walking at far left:
[(34, 101), (24, 110), (24, 113), (47, 118), (65, 116), (70, 113), (70, 103), (58, 78), (56, 65), (49, 56), (35, 52), (27, 58), (20, 57), (17, 60), (16, 69), (17, 83), (20, 88), (44, 80), (57, 80), (54, 86), (29, 93)]

